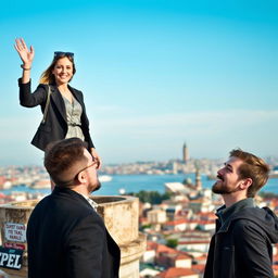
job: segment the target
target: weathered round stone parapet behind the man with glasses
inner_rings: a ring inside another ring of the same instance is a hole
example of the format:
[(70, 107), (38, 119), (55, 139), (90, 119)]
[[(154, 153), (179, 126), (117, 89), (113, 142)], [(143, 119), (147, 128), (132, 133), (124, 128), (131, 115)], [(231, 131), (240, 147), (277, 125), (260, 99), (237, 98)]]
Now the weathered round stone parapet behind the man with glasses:
[[(111, 236), (121, 248), (121, 278), (139, 277), (139, 258), (146, 250), (146, 237), (138, 232), (139, 201), (134, 197), (91, 197), (99, 204), (98, 213), (103, 217)], [(7, 224), (27, 225), (28, 218), (38, 200), (11, 202), (0, 206), (1, 245), (17, 244), (7, 239)], [(27, 243), (21, 242), (25, 251), (20, 270), (1, 268), (11, 278), (27, 277)]]

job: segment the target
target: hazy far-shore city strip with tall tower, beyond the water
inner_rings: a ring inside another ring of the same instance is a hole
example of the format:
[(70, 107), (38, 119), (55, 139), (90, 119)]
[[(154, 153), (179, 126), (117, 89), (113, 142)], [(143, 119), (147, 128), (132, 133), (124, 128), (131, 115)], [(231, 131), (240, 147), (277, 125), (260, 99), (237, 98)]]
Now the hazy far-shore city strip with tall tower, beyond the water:
[[(266, 157), (271, 168), (270, 175), (278, 177), (278, 157)], [(165, 162), (135, 162), (125, 164), (103, 165), (99, 170), (101, 176), (108, 175), (165, 175), (190, 174), (197, 169), (214, 179), (224, 160), (193, 159), (189, 155), (189, 148), (184, 143), (181, 159)], [(47, 188), (49, 176), (43, 166), (2, 166), (0, 167), (0, 189), (25, 185), (31, 188)]]

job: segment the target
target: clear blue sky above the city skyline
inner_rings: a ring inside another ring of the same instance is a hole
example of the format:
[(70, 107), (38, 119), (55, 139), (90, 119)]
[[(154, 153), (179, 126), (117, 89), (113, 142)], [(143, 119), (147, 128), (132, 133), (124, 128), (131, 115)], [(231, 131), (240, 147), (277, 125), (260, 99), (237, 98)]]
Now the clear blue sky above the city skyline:
[(10, 1), (0, 10), (0, 165), (41, 164), (39, 108), (18, 104), (16, 37), (36, 51), (33, 89), (56, 50), (75, 52), (104, 163), (278, 153), (278, 2)]

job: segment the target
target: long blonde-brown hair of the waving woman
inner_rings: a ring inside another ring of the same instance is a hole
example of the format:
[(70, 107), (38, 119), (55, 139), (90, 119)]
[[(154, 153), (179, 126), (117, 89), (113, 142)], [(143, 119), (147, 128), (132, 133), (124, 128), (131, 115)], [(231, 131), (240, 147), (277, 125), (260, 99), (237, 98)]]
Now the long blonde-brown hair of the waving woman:
[[(59, 54), (56, 54), (59, 53)], [(55, 52), (54, 58), (50, 66), (41, 74), (39, 83), (40, 84), (51, 84), (55, 85), (55, 77), (52, 74), (53, 68), (56, 64), (56, 62), (62, 58), (67, 58), (73, 63), (73, 76), (76, 73), (75, 63), (74, 63), (74, 55), (70, 52)], [(73, 79), (73, 77), (70, 79), (70, 81)]]

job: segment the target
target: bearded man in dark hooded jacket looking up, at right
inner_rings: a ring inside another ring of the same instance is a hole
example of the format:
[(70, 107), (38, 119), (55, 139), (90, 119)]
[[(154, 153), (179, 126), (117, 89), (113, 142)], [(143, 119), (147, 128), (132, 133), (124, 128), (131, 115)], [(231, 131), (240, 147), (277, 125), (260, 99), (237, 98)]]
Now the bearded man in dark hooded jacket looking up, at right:
[(216, 213), (204, 278), (274, 277), (271, 243), (278, 242), (278, 218), (253, 201), (268, 172), (262, 159), (241, 150), (232, 150), (217, 172), (212, 190), (225, 205)]

